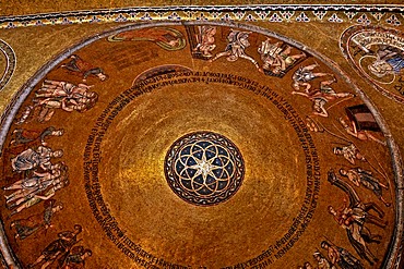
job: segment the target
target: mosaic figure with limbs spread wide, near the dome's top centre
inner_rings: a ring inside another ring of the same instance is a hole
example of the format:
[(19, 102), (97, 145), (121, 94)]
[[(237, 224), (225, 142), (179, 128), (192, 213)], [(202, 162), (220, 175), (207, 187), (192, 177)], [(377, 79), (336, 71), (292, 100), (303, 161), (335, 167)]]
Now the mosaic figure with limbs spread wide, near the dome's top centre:
[(248, 41), (250, 34), (250, 32), (231, 29), (230, 34), (227, 36), (227, 47), (225, 51), (217, 53), (210, 61), (213, 62), (221, 57), (226, 57), (227, 61), (235, 62), (238, 58), (243, 58), (252, 62), (257, 69), (260, 69), (258, 62), (246, 53), (246, 49), (250, 47), (250, 42)]

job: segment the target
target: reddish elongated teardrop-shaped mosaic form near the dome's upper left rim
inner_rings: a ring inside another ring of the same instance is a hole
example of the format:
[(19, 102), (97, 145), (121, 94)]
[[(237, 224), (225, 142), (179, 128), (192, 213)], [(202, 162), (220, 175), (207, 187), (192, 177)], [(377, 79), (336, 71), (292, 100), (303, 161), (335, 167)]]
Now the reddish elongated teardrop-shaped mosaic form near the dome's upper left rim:
[(180, 50), (187, 45), (182, 33), (169, 27), (128, 30), (108, 37), (108, 41), (152, 41), (165, 50)]

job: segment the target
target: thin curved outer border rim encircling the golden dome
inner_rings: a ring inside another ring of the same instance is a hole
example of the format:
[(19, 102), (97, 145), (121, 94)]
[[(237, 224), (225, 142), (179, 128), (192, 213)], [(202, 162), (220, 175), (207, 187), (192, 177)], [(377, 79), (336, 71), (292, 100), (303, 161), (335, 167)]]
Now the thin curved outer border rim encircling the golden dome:
[[(402, 16), (402, 15), (401, 15)], [(154, 22), (154, 26), (158, 25), (192, 25), (192, 24), (201, 24), (201, 22)], [(270, 32), (265, 28), (252, 26), (252, 25), (246, 25), (246, 24), (238, 24), (235, 22), (203, 22), (203, 24), (211, 24), (211, 25), (224, 25), (224, 26), (230, 26), (230, 27), (239, 27), (246, 30), (253, 30), (259, 34), (263, 35), (271, 35), (275, 36), (276, 38), (281, 40), (286, 40), (286, 38), (282, 35), (275, 34), (273, 32)], [(57, 66), (66, 57), (70, 56), (72, 52), (90, 45), (91, 42), (98, 40), (99, 38), (103, 38), (107, 35), (110, 35), (112, 33), (118, 33), (122, 30), (123, 28), (129, 30), (131, 28), (141, 28), (141, 27), (147, 27), (150, 24), (133, 24), (133, 25), (126, 25), (124, 27), (118, 27), (109, 32), (104, 32), (102, 34), (95, 35), (91, 38), (86, 38), (83, 41), (79, 42), (78, 45), (67, 48), (61, 52), (60, 54), (56, 56), (52, 60), (50, 60), (46, 65), (40, 68), (35, 75), (33, 75), (22, 87), (17, 90), (13, 99), (10, 101), (9, 106), (7, 107), (4, 113), (0, 118), (0, 125), (2, 129), (0, 130), (0, 147), (2, 146), (4, 138), (7, 136), (7, 133), (9, 131), (9, 127), (11, 125), (12, 119), (14, 118), (19, 107), (24, 101), (26, 96), (31, 93), (31, 90), (34, 88), (34, 86), (55, 66)], [(290, 42), (290, 40), (288, 40)], [(367, 107), (371, 110), (373, 113), (373, 117), (376, 121), (378, 122), (379, 126), (381, 127), (382, 132), (384, 133), (388, 142), (389, 149), (391, 151), (391, 158), (392, 158), (392, 166), (393, 171), (395, 174), (395, 184), (396, 184), (396, 208), (395, 208), (395, 227), (394, 227), (394, 233), (392, 234), (392, 240), (389, 245), (389, 253), (385, 255), (385, 259), (383, 260), (382, 268), (397, 268), (400, 266), (401, 260), (401, 249), (403, 247), (404, 241), (403, 241), (403, 230), (404, 230), (404, 181), (403, 181), (403, 164), (401, 159), (401, 154), (397, 145), (395, 144), (391, 132), (388, 129), (388, 125), (384, 121), (384, 119), (378, 113), (378, 110), (376, 109), (372, 101), (367, 97), (365, 93), (363, 93), (343, 72), (335, 62), (333, 62), (331, 59), (318, 53), (314, 50), (311, 50), (310, 48), (306, 47), (304, 44), (300, 44), (298, 41), (292, 41), (294, 46), (296, 46), (299, 49), (304, 49), (305, 51), (309, 52), (310, 54), (316, 56), (321, 61), (323, 61), (329, 68), (331, 68), (334, 72), (341, 74), (344, 77), (344, 81), (352, 85), (353, 89), (358, 94), (358, 96), (361, 98), (361, 100), (367, 105)], [(0, 151), (1, 155), (1, 151)], [(0, 222), (0, 231), (2, 229), (1, 222)], [(1, 237), (1, 234), (0, 234)], [(3, 239), (5, 236), (2, 236)], [(17, 259), (13, 257), (12, 249), (9, 248), (8, 244), (0, 241), (0, 247), (3, 257), (9, 257), (12, 259), (11, 262), (17, 262)], [(10, 260), (5, 259), (8, 262)], [(9, 266), (14, 266), (13, 268), (20, 268), (19, 266), (15, 266), (15, 264), (8, 264)]]

